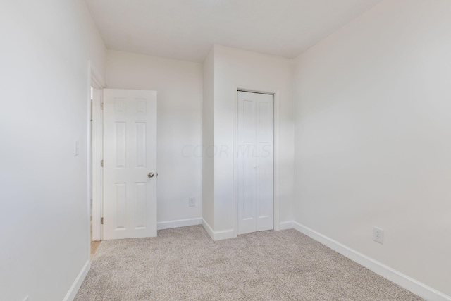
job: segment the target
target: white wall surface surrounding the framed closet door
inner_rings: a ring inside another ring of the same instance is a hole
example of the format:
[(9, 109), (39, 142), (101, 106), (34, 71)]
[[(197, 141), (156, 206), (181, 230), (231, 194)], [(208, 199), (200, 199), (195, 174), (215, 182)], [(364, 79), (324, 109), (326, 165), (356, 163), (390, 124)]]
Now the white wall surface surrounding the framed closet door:
[[(280, 126), (280, 146), (275, 152), (275, 155), (280, 154), (279, 216), (281, 222), (292, 220), (293, 72), (294, 62), (290, 59), (219, 45), (214, 47), (214, 144), (217, 149), (214, 158), (214, 231), (237, 231), (233, 144), (238, 86), (280, 91), (280, 124), (275, 125), (275, 129)], [(278, 113), (278, 108), (274, 113)]]

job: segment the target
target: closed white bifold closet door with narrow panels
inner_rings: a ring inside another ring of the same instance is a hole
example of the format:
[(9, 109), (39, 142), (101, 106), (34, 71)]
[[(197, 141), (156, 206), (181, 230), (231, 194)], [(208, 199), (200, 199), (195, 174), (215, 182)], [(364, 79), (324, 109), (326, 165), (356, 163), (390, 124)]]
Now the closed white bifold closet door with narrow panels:
[(238, 234), (273, 228), (273, 95), (238, 92)]

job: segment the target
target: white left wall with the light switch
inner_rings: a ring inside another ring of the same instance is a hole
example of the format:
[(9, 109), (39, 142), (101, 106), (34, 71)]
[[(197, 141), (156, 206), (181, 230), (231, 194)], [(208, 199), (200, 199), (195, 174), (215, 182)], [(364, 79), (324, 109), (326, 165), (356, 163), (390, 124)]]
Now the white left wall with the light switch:
[(87, 60), (103, 73), (104, 44), (78, 0), (1, 1), (0, 36), (0, 300), (63, 300), (89, 266)]

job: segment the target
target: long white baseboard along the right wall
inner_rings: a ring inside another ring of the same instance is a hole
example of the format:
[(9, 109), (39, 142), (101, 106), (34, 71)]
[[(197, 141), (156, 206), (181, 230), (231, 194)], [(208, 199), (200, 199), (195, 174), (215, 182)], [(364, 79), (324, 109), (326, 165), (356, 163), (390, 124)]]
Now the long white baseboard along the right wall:
[[(285, 222), (284, 224), (286, 224)], [(419, 295), (428, 301), (451, 301), (451, 297), (445, 295), (444, 293), (440, 293), (438, 290), (431, 288), (430, 286), (421, 283), (420, 281), (416, 281), (414, 278), (411, 278), (405, 274), (396, 271), (395, 269), (390, 268), (390, 266), (385, 266), (385, 264), (381, 264), (381, 262), (376, 262), (376, 260), (367, 257), (366, 255), (357, 252), (356, 250), (352, 250), (350, 247), (346, 245), (342, 245), (340, 242), (328, 238), (326, 235), (318, 233), (311, 228), (308, 228), (300, 223), (295, 221), (292, 222), (294, 228), (300, 233), (304, 233), (305, 235), (313, 238), (314, 240), (321, 242), (321, 244), (326, 245), (326, 247), (330, 247), (330, 249), (338, 252), (345, 257), (351, 259), (362, 266), (365, 266), (366, 269), (369, 269), (376, 274), (383, 276), (397, 285), (400, 285), (402, 288), (410, 290), (415, 295)], [(280, 225), (282, 227), (282, 225)]]

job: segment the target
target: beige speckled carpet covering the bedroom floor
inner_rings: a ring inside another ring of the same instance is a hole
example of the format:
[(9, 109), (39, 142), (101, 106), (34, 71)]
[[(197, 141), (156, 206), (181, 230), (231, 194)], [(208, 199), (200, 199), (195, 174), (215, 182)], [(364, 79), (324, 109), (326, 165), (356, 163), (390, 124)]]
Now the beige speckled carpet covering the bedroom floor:
[(192, 226), (102, 242), (75, 300), (422, 299), (295, 230), (213, 242)]

